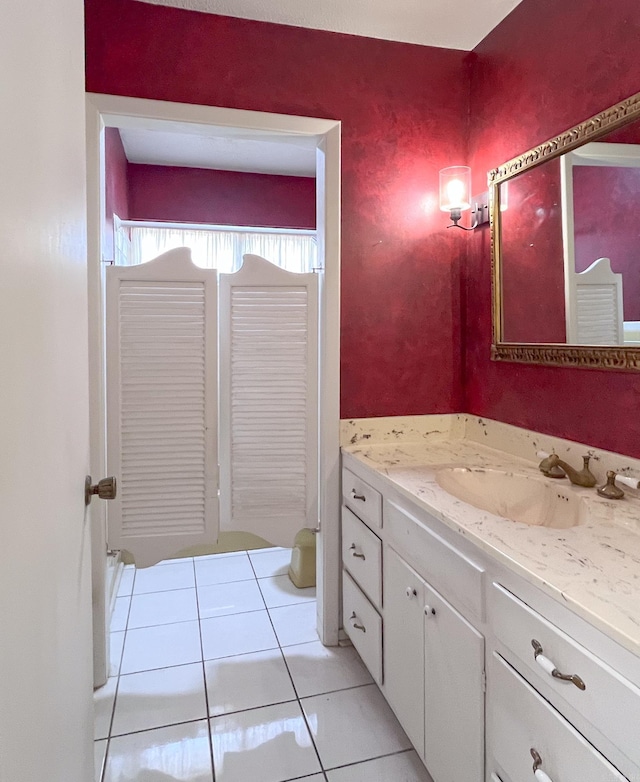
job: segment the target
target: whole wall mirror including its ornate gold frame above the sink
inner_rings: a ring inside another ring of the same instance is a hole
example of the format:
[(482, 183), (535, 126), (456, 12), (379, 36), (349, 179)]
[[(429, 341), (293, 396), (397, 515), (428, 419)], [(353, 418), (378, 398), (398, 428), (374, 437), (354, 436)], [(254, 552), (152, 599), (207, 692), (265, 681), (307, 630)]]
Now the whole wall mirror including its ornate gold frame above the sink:
[(640, 93), (488, 178), (491, 358), (640, 370)]

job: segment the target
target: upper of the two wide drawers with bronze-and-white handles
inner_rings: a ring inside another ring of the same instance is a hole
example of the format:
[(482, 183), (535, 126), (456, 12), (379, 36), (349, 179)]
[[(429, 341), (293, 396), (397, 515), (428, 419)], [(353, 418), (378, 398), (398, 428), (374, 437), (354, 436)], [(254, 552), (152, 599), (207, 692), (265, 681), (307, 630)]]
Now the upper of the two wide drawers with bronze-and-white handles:
[[(490, 592), (489, 619), (513, 664), (544, 682), (551, 703), (561, 710), (569, 704), (603, 736), (615, 734), (616, 746), (640, 766), (640, 689), (499, 584)], [(542, 647), (537, 659), (532, 641)], [(577, 674), (585, 689), (554, 677), (553, 668)]]

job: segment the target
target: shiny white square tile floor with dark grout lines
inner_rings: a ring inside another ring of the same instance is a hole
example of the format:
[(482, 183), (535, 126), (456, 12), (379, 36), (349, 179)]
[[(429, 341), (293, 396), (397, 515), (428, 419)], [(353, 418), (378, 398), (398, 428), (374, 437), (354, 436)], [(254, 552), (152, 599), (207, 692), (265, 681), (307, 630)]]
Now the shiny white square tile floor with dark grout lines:
[(353, 648), (315, 630), (290, 552), (125, 569), (96, 782), (429, 782)]

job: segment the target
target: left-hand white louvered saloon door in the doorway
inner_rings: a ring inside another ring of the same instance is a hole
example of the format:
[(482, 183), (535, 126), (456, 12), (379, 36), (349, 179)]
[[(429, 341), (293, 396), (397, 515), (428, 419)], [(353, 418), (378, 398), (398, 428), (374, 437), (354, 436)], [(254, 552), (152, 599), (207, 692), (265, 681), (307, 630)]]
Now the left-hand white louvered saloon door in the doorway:
[(145, 567), (218, 537), (217, 276), (187, 248), (106, 275), (108, 541)]

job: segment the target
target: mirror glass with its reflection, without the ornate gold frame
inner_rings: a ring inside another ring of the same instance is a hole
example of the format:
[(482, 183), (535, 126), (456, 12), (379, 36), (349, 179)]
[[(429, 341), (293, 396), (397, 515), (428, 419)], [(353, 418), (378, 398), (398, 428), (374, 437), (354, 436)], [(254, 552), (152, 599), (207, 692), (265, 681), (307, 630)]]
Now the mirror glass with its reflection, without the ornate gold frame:
[(640, 347), (640, 121), (508, 188), (500, 341)]

